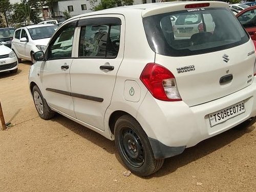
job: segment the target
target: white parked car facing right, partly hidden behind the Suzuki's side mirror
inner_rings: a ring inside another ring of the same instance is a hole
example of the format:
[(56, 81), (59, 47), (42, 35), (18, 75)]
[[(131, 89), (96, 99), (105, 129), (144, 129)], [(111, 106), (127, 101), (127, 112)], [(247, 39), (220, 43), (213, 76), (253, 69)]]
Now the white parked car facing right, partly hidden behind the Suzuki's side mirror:
[(18, 61), (31, 60), (32, 53), (45, 50), (57, 26), (53, 24), (31, 25), (18, 28), (14, 32), (12, 50), (16, 53)]

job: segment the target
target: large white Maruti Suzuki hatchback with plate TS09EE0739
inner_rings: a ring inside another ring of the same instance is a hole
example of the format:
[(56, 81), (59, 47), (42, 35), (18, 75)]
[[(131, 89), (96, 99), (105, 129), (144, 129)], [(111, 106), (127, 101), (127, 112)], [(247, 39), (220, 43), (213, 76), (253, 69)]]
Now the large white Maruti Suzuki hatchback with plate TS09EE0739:
[[(181, 13), (200, 14), (202, 31), (176, 39), (171, 18)], [(165, 158), (255, 122), (254, 50), (226, 3), (119, 7), (61, 25), (33, 54), (29, 86), (41, 118), (58, 112), (115, 140), (124, 164), (147, 176)]]

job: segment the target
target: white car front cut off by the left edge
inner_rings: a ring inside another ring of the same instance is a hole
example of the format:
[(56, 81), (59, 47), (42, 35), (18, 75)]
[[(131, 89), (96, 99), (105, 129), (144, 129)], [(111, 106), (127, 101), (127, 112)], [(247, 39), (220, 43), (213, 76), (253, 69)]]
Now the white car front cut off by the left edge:
[(0, 42), (0, 72), (17, 73), (18, 60), (15, 53)]

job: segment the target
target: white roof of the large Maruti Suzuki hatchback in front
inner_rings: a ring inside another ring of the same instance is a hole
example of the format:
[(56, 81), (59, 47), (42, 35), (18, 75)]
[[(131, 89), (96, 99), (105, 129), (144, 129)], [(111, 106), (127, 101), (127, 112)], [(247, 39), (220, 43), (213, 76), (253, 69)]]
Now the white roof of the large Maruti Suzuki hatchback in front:
[(228, 4), (224, 2), (212, 2), (212, 1), (203, 1), (203, 2), (166, 2), (166, 3), (152, 3), (152, 4), (140, 4), (140, 5), (132, 5), (132, 6), (123, 6), (123, 7), (115, 7), (111, 9), (104, 9), (100, 11), (94, 11), (90, 13), (84, 13), (81, 15), (74, 16), (69, 20), (74, 18), (79, 18), (83, 16), (90, 15), (100, 15), (100, 14), (130, 14), (131, 12), (140, 12), (142, 16), (149, 16), (152, 14), (157, 14), (161, 12), (170, 12), (177, 10), (185, 10), (185, 5), (187, 4), (203, 4), (209, 3), (209, 7), (227, 7)]

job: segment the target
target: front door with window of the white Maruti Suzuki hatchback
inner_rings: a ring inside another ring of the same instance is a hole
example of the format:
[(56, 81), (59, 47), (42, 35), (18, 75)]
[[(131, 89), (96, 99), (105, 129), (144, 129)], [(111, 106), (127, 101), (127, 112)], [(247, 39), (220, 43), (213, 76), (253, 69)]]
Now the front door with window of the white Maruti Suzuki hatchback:
[(42, 87), (47, 103), (62, 114), (75, 117), (70, 89), (70, 67), (72, 65), (74, 34), (78, 19), (59, 28), (49, 42), (42, 63)]

